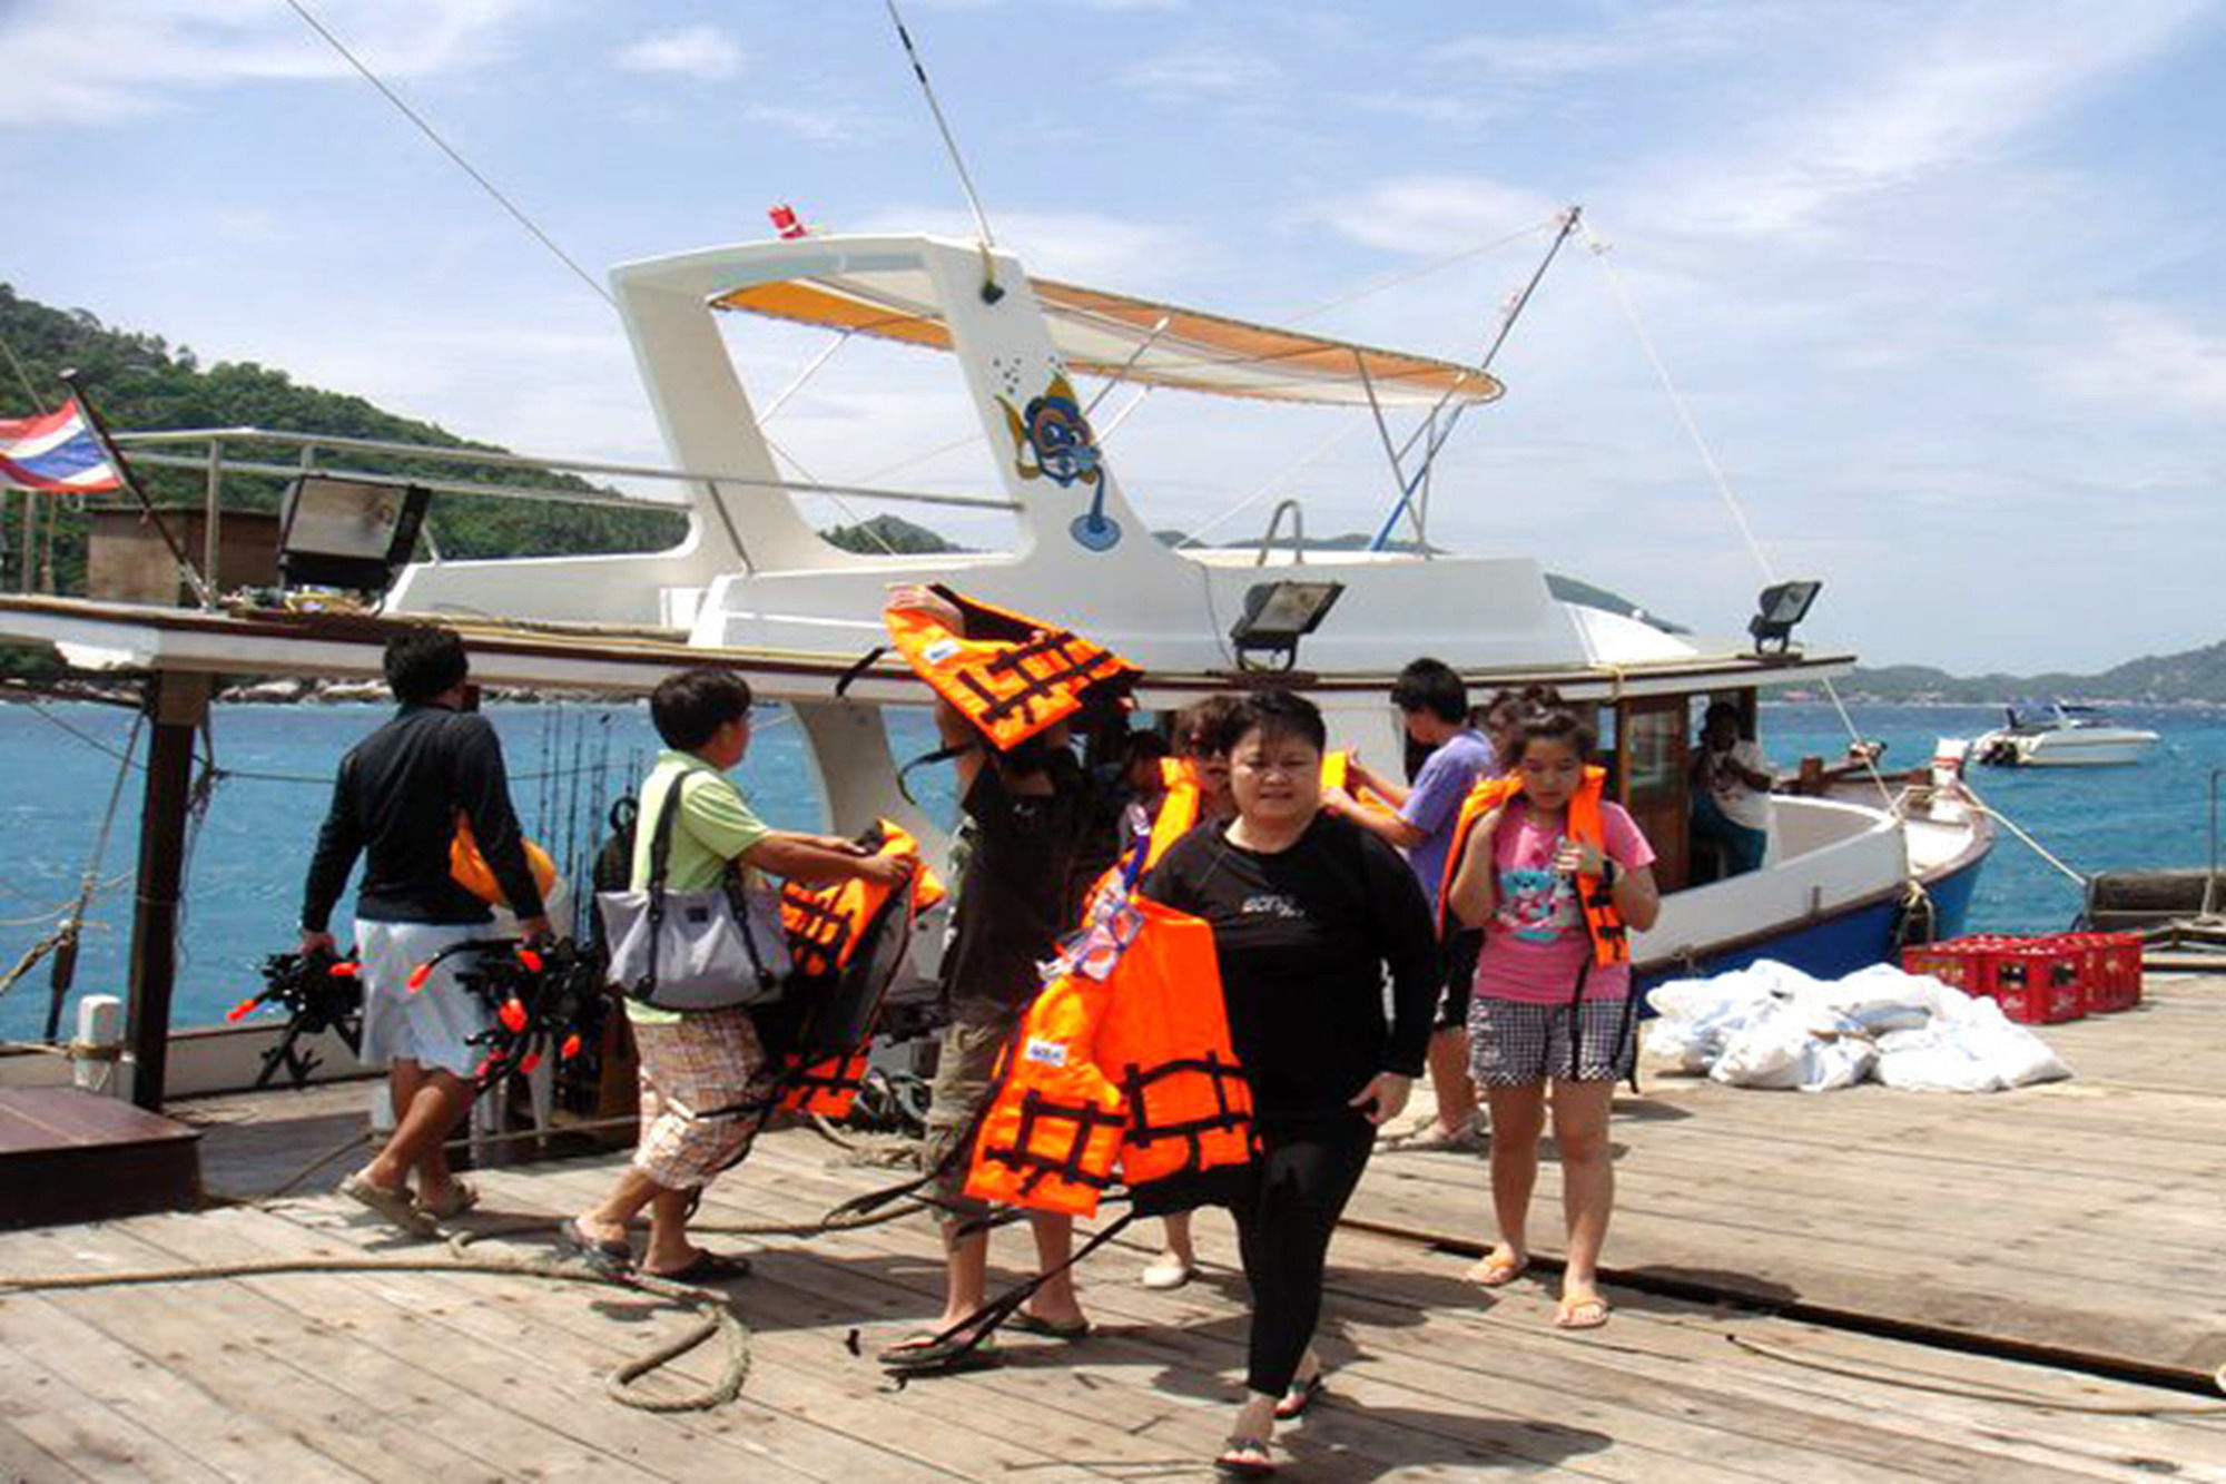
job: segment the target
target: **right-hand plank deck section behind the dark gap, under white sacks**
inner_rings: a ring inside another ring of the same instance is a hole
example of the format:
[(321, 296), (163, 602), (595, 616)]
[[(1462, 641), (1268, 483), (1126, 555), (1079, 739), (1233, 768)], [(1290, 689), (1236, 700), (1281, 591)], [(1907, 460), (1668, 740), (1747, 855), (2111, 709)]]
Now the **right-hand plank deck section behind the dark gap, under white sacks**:
[[(2041, 1036), (2075, 1081), (1803, 1096), (1645, 1074), (1616, 1103), (1607, 1266), (2124, 1366), (2226, 1366), (2226, 980), (2153, 976), (2139, 1009)], [(1549, 1159), (1543, 1250), (1558, 1210)], [(1380, 1156), (1351, 1214), (1485, 1243), (1485, 1161)]]

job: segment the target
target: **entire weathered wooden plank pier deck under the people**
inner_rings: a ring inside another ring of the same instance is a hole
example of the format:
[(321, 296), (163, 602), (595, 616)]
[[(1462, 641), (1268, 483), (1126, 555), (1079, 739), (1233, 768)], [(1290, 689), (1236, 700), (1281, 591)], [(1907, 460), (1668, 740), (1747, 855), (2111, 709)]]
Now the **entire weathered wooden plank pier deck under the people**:
[[(1287, 1473), (2226, 1480), (2226, 1404), (2173, 1413), (2206, 1402), (1986, 1353), (2108, 1341), (2106, 1357), (2159, 1377), (2226, 1359), (2226, 1272), (2204, 1261), (2226, 1230), (2226, 1119), (2197, 1074), (2226, 1043), (2226, 983), (2153, 980), (2141, 1012), (2046, 1034), (2081, 1081), (1805, 1099), (1652, 1078), (1616, 1125), (1609, 1257), (1632, 1283), (1609, 1288), (1618, 1312), (1594, 1335), (1547, 1326), (1549, 1281), (1498, 1295), (1460, 1281), (1460, 1248), (1483, 1237), (1483, 1161), (1385, 1156), (1353, 1210), (1362, 1226), (1331, 1254), (1336, 1377), (1284, 1433)], [(305, 1094), (314, 1134), (292, 1145), (278, 1099), (234, 1105), (205, 1136), (209, 1185), (245, 1194), (296, 1172), (361, 1127), (363, 1099), (361, 1085)], [(467, 1223), (579, 1210), (614, 1163), (485, 1172), (490, 1210)], [(706, 1221), (804, 1221), (888, 1179), (808, 1132), (775, 1134), (712, 1190)], [(1554, 1201), (1547, 1165), (1538, 1212)], [(603, 1373), (688, 1324), (646, 1295), (461, 1272), (11, 1295), (0, 1480), (1206, 1477), (1244, 1310), (1227, 1221), (1206, 1214), (1200, 1237), (1206, 1279), (1171, 1295), (1126, 1281), (1140, 1241), (1093, 1259), (1089, 1341), (1013, 1337), (997, 1368), (902, 1390), (850, 1337), (870, 1348), (933, 1312), (935, 1232), (906, 1219), (764, 1241), (757, 1275), (732, 1288), (752, 1332), (748, 1384), (726, 1408), (679, 1415), (603, 1395)], [(490, 1237), (474, 1252), (539, 1243)], [(1008, 1259), (1022, 1246), (999, 1237)], [(296, 1254), (441, 1250), (381, 1234), (332, 1194), (0, 1234), (0, 1272)], [(1678, 1297), (1678, 1283), (1754, 1304)], [(1881, 1332), (1894, 1326), (1908, 1328)], [(717, 1370), (706, 1346), (643, 1386)]]

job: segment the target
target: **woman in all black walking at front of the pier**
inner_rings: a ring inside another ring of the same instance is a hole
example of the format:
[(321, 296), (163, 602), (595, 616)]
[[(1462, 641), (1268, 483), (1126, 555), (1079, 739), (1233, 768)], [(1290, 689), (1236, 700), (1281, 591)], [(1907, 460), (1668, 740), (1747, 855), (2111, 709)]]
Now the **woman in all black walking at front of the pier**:
[[(1238, 1199), (1253, 1292), (1249, 1397), (1222, 1473), (1273, 1471), (1278, 1419), (1322, 1384), (1313, 1326), (1329, 1234), (1422, 1072), (1438, 947), (1414, 871), (1382, 840), (1322, 813), (1327, 733), (1289, 691), (1244, 697), (1229, 784), (1238, 818), (1200, 824), (1144, 896), (1213, 925), (1229, 1036), (1253, 1085), (1260, 1156)], [(1382, 983), (1391, 972), (1393, 1021)]]

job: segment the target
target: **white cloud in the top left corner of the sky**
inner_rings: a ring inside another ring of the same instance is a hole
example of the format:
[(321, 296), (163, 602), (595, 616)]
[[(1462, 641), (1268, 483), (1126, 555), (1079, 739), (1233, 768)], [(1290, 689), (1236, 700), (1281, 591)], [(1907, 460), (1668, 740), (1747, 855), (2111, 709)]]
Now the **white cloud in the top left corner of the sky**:
[[(490, 62), (532, 0), (325, 0), (325, 22), (383, 78)], [(116, 123), (194, 89), (352, 78), (294, 11), (263, 0), (0, 7), (0, 125)]]

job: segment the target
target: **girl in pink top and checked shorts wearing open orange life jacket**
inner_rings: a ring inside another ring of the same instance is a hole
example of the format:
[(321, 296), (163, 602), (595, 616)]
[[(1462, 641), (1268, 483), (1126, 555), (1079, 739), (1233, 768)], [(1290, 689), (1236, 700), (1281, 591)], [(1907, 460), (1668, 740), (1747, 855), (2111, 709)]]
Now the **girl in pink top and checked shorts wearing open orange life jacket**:
[(1614, 1208), (1607, 1112), (1636, 1058), (1629, 934), (1661, 914), (1654, 849), (1607, 775), (1587, 767), (1594, 733), (1569, 711), (1529, 711), (1511, 729), (1511, 775), (1487, 778), (1460, 809), (1442, 909), (1485, 929), (1469, 1003), (1469, 1072), (1491, 1110), (1498, 1246), (1469, 1279), (1511, 1283), (1529, 1266), (1529, 1199), (1552, 1085), (1554, 1148), (1567, 1212), (1560, 1328), (1607, 1324), (1600, 1243)]

